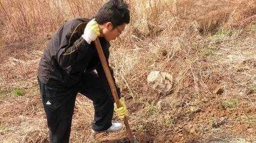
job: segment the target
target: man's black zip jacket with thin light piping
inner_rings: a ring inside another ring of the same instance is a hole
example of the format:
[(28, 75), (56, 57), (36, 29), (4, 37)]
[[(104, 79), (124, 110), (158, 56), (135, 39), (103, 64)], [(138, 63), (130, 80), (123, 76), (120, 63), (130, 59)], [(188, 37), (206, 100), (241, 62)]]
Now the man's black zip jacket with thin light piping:
[[(94, 42), (87, 44), (81, 37), (90, 20), (72, 19), (58, 29), (49, 41), (39, 63), (38, 77), (42, 83), (49, 86), (71, 87), (81, 80), (83, 72), (96, 70), (106, 91), (108, 94), (111, 93)], [(108, 62), (110, 43), (103, 37), (99, 37), (99, 40)], [(113, 77), (111, 67), (110, 71)]]

